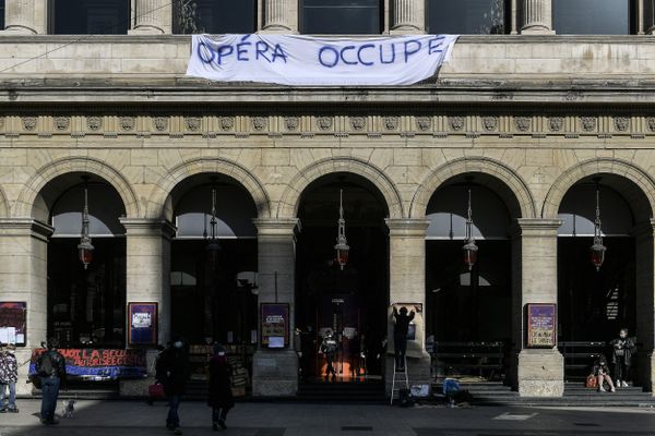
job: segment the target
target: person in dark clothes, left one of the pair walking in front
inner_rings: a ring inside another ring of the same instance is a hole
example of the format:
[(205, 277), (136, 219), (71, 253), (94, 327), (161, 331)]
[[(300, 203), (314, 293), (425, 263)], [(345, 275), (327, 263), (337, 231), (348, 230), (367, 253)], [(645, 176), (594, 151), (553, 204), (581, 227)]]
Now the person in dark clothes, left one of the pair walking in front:
[(159, 354), (155, 378), (164, 385), (164, 393), (168, 398), (166, 427), (176, 435), (181, 435), (179, 408), (189, 379), (189, 363), (181, 337), (177, 337), (172, 344)]

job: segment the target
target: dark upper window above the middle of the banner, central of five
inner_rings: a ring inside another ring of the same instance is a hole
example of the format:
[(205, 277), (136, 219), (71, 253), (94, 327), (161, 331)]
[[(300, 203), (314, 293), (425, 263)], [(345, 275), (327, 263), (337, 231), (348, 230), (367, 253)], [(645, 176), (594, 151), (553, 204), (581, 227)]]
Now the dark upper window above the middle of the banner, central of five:
[(301, 0), (300, 29), (303, 34), (380, 34), (380, 0)]

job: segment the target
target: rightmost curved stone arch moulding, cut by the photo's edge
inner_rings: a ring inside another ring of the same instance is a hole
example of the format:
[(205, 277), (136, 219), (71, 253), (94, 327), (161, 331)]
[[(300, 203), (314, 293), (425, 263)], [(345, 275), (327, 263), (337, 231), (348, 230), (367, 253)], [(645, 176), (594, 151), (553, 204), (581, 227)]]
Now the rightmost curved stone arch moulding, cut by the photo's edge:
[(580, 180), (594, 174), (615, 174), (632, 182), (641, 190), (641, 194), (645, 195), (648, 205), (641, 204), (643, 202), (631, 202), (630, 197), (626, 197), (626, 199), (630, 206), (634, 207), (635, 213), (641, 211), (642, 215), (653, 217), (653, 206), (655, 205), (655, 181), (653, 178), (631, 162), (611, 158), (586, 160), (564, 171), (550, 186), (544, 201), (541, 216), (544, 218), (557, 218), (560, 204), (567, 192)]

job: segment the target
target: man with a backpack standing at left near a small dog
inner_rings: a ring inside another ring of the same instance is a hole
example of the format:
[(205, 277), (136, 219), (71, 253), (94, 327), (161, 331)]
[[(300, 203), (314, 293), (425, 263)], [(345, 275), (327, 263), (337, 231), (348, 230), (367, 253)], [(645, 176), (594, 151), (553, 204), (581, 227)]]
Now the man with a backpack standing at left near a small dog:
[(55, 420), (55, 409), (59, 398), (59, 389), (66, 388), (66, 360), (59, 351), (59, 341), (48, 339), (47, 350), (38, 358), (35, 364), (36, 374), (41, 385), (41, 423), (44, 425), (59, 424)]

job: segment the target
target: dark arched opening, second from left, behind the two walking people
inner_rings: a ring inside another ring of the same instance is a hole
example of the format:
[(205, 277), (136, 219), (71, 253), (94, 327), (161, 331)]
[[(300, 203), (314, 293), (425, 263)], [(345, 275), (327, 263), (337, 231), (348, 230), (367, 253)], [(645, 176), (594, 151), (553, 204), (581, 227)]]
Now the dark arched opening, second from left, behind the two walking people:
[(177, 228), (171, 332), (190, 344), (192, 377), (206, 376), (215, 341), (225, 346), (233, 366), (250, 368), (258, 339), (255, 204), (237, 180), (201, 173), (178, 183), (168, 205)]

